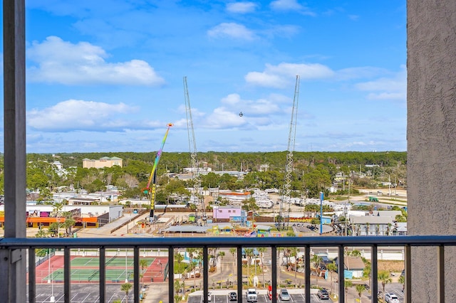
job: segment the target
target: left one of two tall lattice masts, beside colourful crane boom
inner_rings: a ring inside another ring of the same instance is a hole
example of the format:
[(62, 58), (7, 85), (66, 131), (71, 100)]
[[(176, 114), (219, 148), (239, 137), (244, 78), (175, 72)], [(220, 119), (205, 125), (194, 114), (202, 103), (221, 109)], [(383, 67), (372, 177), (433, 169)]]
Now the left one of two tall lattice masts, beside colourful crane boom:
[[(190, 149), (190, 165), (192, 168), (193, 180), (193, 198), (195, 205), (200, 205), (202, 208), (202, 220), (206, 225), (207, 218), (204, 210), (204, 197), (201, 188), (201, 176), (199, 175), (199, 164), (197, 157), (197, 142), (195, 139), (195, 130), (193, 129), (192, 107), (190, 107), (190, 97), (188, 94), (187, 77), (184, 77), (184, 96), (185, 96), (185, 113), (187, 115), (187, 132), (188, 132), (188, 147)], [(196, 215), (196, 214), (195, 214)], [(197, 218), (197, 216), (196, 216)], [(197, 220), (195, 220), (197, 222)]]

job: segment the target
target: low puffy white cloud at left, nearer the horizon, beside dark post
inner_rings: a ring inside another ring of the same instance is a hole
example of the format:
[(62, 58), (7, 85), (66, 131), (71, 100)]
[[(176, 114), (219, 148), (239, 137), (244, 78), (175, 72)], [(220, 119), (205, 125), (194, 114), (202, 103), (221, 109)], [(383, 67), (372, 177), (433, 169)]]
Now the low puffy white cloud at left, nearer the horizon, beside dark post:
[(123, 103), (66, 100), (43, 110), (27, 112), (27, 122), (33, 129), (47, 132), (73, 130), (122, 130), (131, 127), (123, 115), (136, 109)]

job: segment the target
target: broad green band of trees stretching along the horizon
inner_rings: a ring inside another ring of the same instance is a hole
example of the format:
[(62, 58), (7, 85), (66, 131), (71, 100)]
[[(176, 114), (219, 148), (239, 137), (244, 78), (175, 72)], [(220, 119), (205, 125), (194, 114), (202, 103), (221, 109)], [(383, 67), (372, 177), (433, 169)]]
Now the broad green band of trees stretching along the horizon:
[[(123, 159), (123, 167), (83, 169), (83, 159), (100, 159), (117, 156)], [(3, 158), (1, 159), (0, 183), (3, 190)], [(375, 187), (380, 181), (405, 183), (406, 152), (299, 152), (293, 156), (291, 195), (318, 197), (319, 191), (327, 191), (338, 173), (343, 173), (352, 186)], [(64, 172), (52, 166), (53, 161), (63, 164)], [(125, 197), (144, 196), (155, 152), (66, 153), (27, 154), (26, 181), (31, 191), (39, 189), (41, 198), (51, 196), (51, 191), (61, 186), (83, 188), (89, 192), (103, 191), (114, 185)], [(243, 179), (229, 174), (204, 174), (202, 186), (220, 189), (282, 188), (286, 166), (286, 151), (280, 152), (216, 152), (198, 154), (199, 167), (212, 171), (246, 171)], [(368, 166), (366, 166), (368, 165)], [(185, 189), (192, 187), (192, 180), (170, 179), (167, 173), (180, 173), (190, 167), (190, 153), (164, 152), (157, 169), (157, 202), (167, 201), (170, 195), (188, 196)]]

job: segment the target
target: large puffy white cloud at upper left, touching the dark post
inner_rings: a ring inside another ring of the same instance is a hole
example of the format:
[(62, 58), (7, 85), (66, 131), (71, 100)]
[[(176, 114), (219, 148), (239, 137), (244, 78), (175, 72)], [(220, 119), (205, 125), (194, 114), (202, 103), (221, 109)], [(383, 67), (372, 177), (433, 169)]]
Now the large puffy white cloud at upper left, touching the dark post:
[(108, 63), (109, 55), (87, 42), (73, 44), (56, 36), (28, 48), (30, 60), (37, 63), (28, 70), (33, 82), (65, 85), (162, 85), (165, 83), (143, 60)]

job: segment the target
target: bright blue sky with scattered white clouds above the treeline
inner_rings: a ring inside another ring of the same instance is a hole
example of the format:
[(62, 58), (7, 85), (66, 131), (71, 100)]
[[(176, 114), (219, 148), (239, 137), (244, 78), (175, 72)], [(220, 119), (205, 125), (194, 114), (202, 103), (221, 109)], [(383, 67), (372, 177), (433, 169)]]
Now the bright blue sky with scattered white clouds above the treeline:
[(405, 151), (405, 0), (26, 1), (28, 153), (193, 151), (185, 77), (197, 151)]

